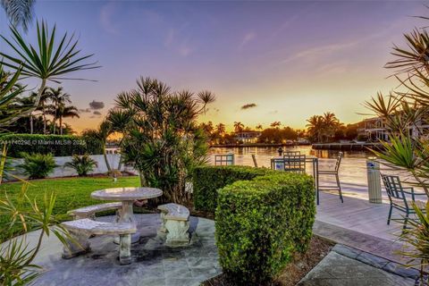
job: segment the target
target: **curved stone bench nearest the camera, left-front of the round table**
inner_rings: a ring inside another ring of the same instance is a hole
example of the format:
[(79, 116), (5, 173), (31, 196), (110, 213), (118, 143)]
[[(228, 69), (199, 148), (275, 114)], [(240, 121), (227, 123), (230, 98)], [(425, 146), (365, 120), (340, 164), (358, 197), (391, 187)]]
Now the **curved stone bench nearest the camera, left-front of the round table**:
[(119, 235), (119, 260), (121, 265), (131, 263), (131, 233), (137, 228), (130, 223), (104, 223), (88, 218), (62, 223), (69, 231), (70, 238), (66, 239), (63, 247), (63, 258), (77, 257), (90, 251), (89, 237), (97, 235)]

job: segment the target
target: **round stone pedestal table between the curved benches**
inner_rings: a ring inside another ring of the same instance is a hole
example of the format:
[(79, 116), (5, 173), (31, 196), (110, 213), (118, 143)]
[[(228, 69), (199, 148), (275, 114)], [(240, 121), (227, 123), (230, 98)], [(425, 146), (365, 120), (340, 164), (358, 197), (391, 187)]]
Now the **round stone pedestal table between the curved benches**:
[[(121, 201), (122, 209), (118, 214), (117, 223), (131, 223), (137, 225), (132, 211), (132, 205), (136, 199), (157, 198), (163, 195), (161, 189), (142, 188), (142, 187), (125, 187), (98, 189), (91, 193), (91, 198), (100, 200)], [(131, 236), (131, 243), (139, 241), (139, 233)]]

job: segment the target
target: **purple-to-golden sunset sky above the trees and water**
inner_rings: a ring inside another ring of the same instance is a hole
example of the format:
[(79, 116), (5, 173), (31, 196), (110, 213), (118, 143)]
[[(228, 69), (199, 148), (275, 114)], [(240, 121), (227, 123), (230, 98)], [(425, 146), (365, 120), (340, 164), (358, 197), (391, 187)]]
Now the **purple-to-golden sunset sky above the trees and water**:
[[(393, 43), (404, 46), (404, 32), (429, 24), (412, 17), (429, 14), (424, 4), (38, 0), (35, 13), (74, 31), (84, 53), (102, 65), (73, 75), (97, 82), (63, 81), (80, 109), (93, 100), (105, 104), (69, 121), (75, 130), (96, 127), (140, 75), (173, 89), (213, 91), (217, 100), (201, 121), (304, 128), (309, 116), (326, 111), (341, 122), (360, 121), (365, 100), (397, 86), (383, 65)], [(0, 31), (10, 34), (3, 14)], [(240, 108), (247, 104), (256, 106)]]

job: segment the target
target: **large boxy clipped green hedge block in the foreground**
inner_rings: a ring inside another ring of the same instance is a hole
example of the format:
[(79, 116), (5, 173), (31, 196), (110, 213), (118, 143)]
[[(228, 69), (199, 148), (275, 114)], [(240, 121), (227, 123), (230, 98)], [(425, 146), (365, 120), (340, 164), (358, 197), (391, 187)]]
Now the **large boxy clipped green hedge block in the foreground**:
[(311, 177), (268, 174), (236, 181), (218, 193), (216, 245), (223, 272), (232, 281), (270, 283), (294, 252), (307, 250), (315, 220)]

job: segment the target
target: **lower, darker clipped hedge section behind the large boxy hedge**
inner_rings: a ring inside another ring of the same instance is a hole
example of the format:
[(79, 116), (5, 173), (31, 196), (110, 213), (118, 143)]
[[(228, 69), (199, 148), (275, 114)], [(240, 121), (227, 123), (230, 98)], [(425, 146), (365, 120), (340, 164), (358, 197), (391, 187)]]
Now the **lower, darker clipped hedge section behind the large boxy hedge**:
[(270, 169), (248, 166), (201, 166), (193, 173), (193, 199), (197, 210), (212, 212), (216, 209), (217, 190), (240, 180), (273, 173)]

